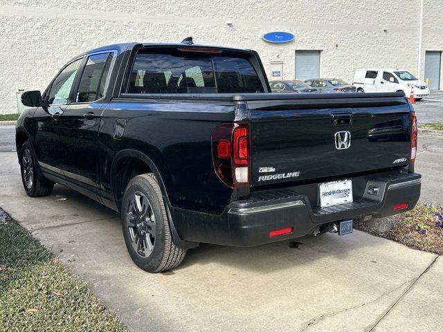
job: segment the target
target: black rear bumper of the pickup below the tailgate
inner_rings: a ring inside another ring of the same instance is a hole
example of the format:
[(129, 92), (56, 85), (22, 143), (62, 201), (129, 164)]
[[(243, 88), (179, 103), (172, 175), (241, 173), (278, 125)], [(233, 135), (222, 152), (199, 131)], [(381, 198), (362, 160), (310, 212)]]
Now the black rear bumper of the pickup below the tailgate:
[[(204, 232), (194, 228), (194, 232), (187, 232), (183, 239), (226, 246), (255, 246), (302, 237), (311, 234), (319, 225), (333, 221), (357, 216), (390, 216), (414, 208), (420, 196), (421, 179), (417, 173), (373, 176), (365, 182), (360, 199), (323, 209), (311, 206), (307, 196), (293, 189), (251, 193), (248, 199), (230, 203), (221, 216), (203, 222)], [(378, 187), (378, 194), (367, 194), (369, 187)], [(394, 210), (395, 205), (405, 202), (407, 208)], [(282, 228), (292, 231), (269, 237), (271, 230)]]

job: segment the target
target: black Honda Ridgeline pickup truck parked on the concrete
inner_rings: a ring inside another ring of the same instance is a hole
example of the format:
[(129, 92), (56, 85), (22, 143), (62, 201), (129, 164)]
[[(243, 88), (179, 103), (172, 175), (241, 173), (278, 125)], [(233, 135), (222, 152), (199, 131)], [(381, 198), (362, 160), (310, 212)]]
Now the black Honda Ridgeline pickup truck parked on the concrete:
[(152, 273), (200, 242), (347, 234), (356, 217), (419, 199), (404, 95), (271, 93), (253, 50), (189, 39), (105, 46), (22, 102), (26, 193), (60, 183), (120, 212), (129, 255)]

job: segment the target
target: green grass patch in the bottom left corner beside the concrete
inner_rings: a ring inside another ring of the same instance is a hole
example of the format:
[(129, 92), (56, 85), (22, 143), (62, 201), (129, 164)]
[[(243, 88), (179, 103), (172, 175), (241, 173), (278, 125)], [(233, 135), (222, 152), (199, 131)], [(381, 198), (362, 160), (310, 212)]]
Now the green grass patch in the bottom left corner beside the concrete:
[(37, 239), (0, 209), (1, 331), (127, 331)]

